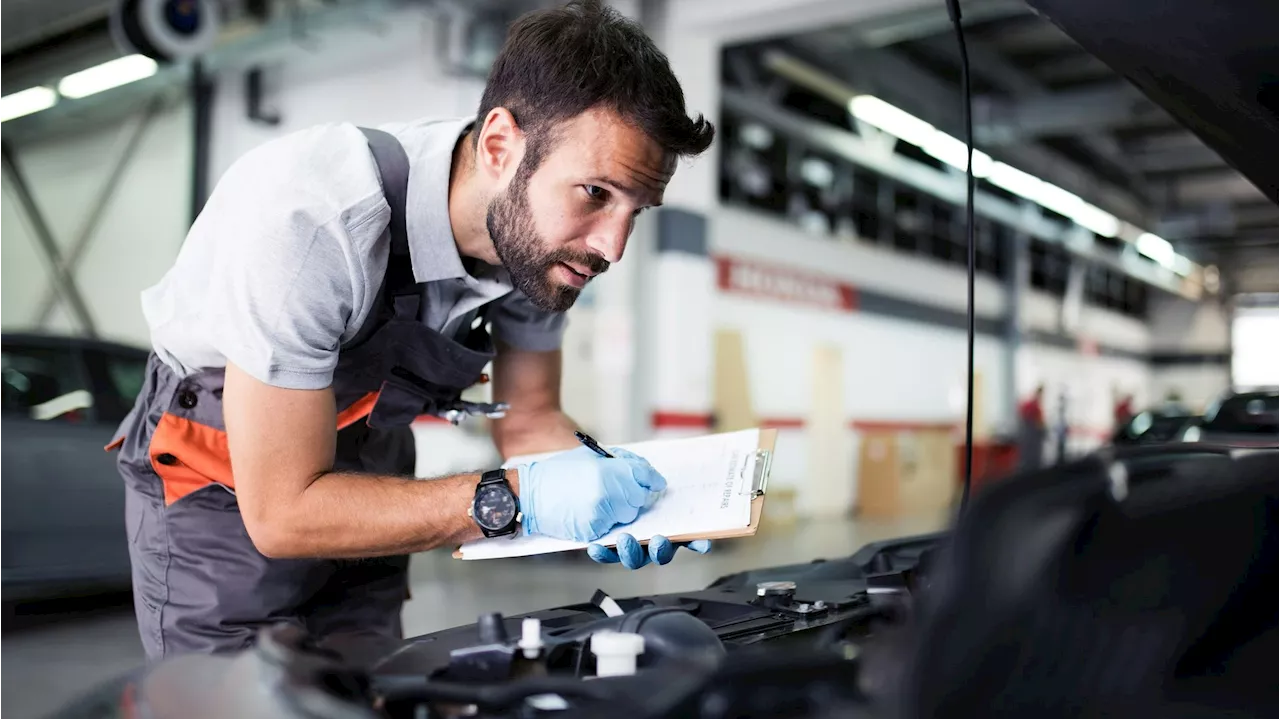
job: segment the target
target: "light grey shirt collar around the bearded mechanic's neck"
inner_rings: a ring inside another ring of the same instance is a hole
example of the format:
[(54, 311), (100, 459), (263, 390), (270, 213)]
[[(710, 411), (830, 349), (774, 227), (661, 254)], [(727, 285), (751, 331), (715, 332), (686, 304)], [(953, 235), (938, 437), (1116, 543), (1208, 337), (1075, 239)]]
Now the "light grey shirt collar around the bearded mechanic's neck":
[[(406, 147), (410, 156), (408, 207), (406, 230), (413, 266), (413, 281), (429, 283), (462, 279), (467, 285), (511, 287), (502, 267), (480, 265), (480, 280), (467, 274), (458, 255), (458, 243), (449, 224), (449, 174), (458, 139), (475, 124), (475, 118), (431, 122), (415, 138), (416, 147)], [(403, 138), (402, 139), (407, 139)], [(411, 141), (412, 142), (412, 141)], [(410, 145), (410, 143), (406, 143)], [(485, 287), (490, 292), (498, 288)]]

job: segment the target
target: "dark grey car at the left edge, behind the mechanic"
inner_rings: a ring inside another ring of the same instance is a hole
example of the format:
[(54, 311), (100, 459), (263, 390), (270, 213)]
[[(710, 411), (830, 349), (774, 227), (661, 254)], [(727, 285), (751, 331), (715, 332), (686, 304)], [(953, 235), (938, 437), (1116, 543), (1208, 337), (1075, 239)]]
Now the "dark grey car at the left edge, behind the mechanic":
[(0, 335), (0, 601), (129, 586), (124, 485), (104, 448), (147, 351)]

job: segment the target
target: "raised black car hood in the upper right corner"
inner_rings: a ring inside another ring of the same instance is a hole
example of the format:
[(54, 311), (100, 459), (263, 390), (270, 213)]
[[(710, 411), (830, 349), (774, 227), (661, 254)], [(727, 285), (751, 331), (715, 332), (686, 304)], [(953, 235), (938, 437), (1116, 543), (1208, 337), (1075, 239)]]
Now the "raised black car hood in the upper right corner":
[(1280, 203), (1280, 0), (1027, 0)]

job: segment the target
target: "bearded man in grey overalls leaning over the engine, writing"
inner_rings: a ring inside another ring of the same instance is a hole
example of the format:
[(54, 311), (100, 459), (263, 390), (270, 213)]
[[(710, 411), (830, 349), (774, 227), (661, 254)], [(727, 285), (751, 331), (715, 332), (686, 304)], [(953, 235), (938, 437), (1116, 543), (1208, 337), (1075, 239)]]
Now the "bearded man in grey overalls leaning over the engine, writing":
[[(113, 443), (148, 658), (275, 622), (397, 640), (408, 554), (632, 522), (664, 480), (575, 440), (563, 312), (713, 134), (644, 32), (585, 0), (511, 28), (474, 119), (330, 124), (239, 159), (143, 294), (155, 352)], [(490, 361), (500, 454), (576, 449), (413, 480), (410, 422), (462, 407)]]

